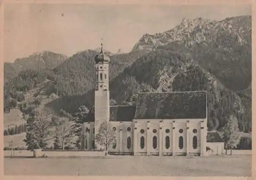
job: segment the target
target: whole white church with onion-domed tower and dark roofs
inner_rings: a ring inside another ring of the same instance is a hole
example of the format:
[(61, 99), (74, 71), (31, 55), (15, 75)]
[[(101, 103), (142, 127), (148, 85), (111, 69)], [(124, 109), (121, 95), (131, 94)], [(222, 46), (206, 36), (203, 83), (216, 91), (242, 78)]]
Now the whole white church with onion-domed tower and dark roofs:
[(109, 62), (101, 44), (95, 56), (95, 104), (82, 125), (82, 149), (98, 147), (94, 139), (106, 121), (116, 138), (110, 154), (206, 155), (206, 91), (140, 93), (136, 106), (111, 106)]

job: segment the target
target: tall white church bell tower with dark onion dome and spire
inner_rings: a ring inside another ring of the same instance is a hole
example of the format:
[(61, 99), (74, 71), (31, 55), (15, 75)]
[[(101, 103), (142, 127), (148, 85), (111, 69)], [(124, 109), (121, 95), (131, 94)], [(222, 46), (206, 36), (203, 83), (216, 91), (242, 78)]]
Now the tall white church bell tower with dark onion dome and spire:
[[(110, 58), (106, 56), (102, 49), (95, 56), (95, 133), (99, 131), (102, 122), (108, 122), (110, 119), (110, 92), (109, 92), (109, 62)], [(101, 148), (95, 141), (96, 147)]]

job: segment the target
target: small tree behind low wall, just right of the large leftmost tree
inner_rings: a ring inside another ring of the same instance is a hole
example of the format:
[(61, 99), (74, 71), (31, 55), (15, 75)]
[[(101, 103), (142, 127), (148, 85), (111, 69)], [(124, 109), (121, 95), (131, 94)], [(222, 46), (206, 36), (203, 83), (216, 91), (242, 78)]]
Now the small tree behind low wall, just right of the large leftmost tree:
[(56, 127), (56, 138), (59, 139), (62, 150), (65, 148), (65, 145), (72, 141), (72, 122), (62, 118), (59, 125)]

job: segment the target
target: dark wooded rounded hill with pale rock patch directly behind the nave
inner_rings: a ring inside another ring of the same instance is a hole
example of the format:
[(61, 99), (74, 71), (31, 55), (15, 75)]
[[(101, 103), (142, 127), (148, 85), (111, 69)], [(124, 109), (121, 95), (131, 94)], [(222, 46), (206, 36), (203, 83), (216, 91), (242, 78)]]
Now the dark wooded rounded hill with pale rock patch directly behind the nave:
[(155, 49), (138, 59), (111, 82), (110, 89), (117, 103), (135, 103), (139, 92), (207, 91), (209, 129), (221, 129), (230, 114), (239, 117), (241, 130), (251, 121), (244, 118), (248, 107), (237, 93), (188, 55), (172, 51)]

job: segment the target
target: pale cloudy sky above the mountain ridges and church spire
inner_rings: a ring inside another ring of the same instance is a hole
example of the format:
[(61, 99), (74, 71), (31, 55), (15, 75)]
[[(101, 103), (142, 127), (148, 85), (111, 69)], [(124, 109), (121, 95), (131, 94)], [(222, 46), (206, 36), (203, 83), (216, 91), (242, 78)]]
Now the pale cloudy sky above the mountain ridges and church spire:
[(183, 18), (222, 20), (251, 15), (249, 5), (8, 4), (4, 9), (4, 61), (52, 51), (66, 56), (100, 47), (130, 52), (143, 34), (174, 28)]

